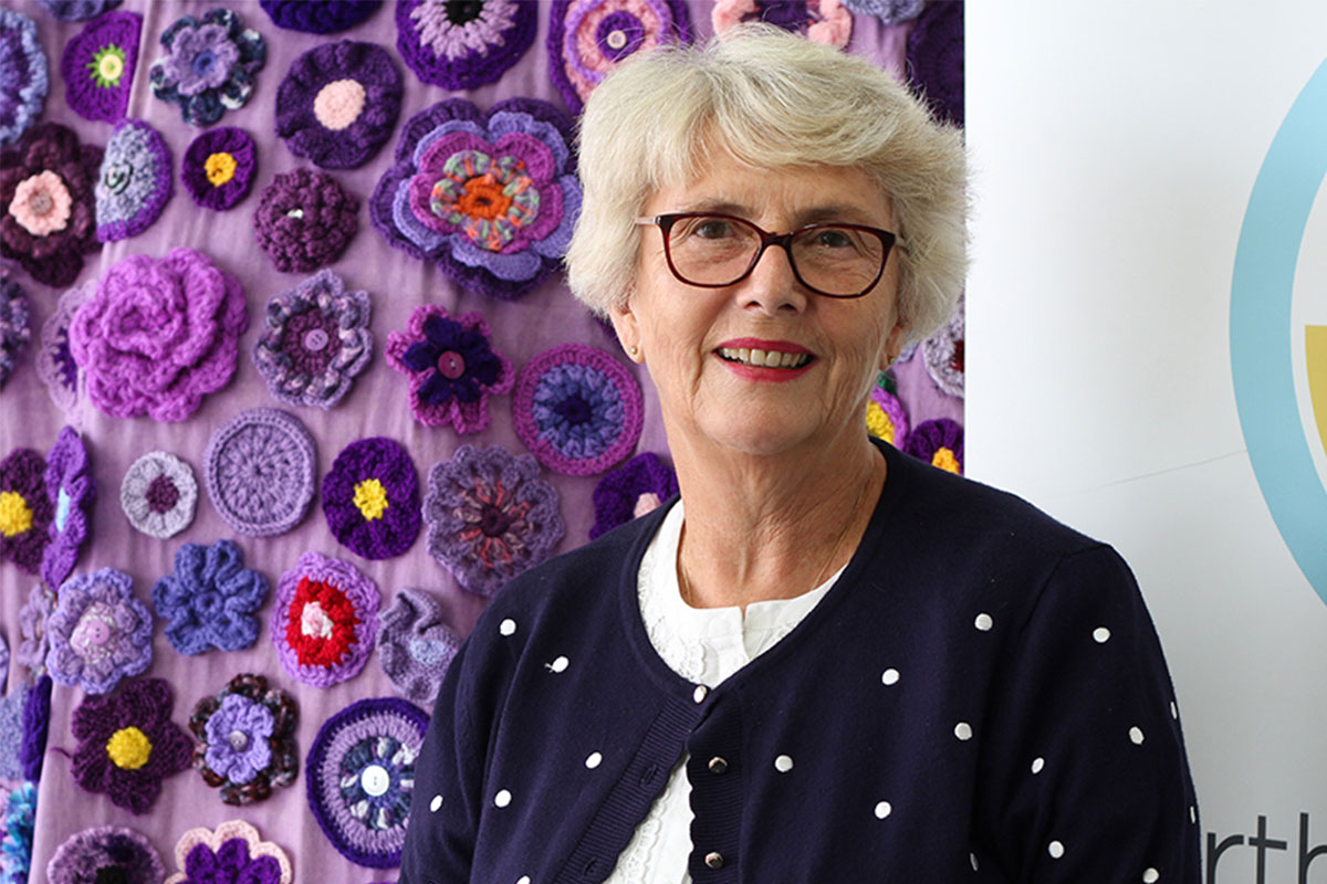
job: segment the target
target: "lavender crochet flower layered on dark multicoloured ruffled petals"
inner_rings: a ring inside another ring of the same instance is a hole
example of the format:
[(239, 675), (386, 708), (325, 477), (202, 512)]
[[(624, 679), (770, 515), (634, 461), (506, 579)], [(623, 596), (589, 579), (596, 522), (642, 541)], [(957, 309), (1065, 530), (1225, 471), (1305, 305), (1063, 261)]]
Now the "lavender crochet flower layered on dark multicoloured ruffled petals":
[(252, 804), (289, 786), (300, 769), (295, 747), (295, 700), (268, 688), (267, 679), (239, 675), (215, 697), (194, 706), (188, 729), (199, 740), (194, 766), (203, 782), (222, 789), (227, 804)]

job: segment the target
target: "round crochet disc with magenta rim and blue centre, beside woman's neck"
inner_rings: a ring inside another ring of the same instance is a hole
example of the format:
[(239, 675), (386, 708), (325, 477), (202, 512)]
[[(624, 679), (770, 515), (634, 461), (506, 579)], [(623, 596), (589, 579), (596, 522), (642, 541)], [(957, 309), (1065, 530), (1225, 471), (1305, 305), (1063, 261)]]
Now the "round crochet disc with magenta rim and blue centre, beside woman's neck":
[(565, 476), (593, 476), (636, 447), (645, 398), (621, 362), (564, 343), (522, 366), (511, 411), (516, 435), (539, 463)]

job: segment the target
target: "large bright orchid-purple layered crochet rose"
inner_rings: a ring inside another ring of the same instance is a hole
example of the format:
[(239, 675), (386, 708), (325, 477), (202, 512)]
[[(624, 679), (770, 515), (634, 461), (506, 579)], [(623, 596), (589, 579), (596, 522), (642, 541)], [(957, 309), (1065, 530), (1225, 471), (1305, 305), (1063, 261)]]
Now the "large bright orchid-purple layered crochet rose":
[(235, 374), (245, 307), (239, 281), (202, 252), (133, 254), (78, 307), (69, 349), (107, 415), (184, 420)]

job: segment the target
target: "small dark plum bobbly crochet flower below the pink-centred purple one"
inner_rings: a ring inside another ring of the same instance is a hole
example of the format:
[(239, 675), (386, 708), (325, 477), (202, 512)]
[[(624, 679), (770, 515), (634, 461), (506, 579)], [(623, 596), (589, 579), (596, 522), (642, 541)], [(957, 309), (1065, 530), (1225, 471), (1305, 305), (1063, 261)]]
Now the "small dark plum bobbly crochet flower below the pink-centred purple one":
[(341, 257), (360, 229), (360, 200), (334, 178), (308, 168), (283, 172), (263, 191), (253, 233), (283, 273), (309, 273)]

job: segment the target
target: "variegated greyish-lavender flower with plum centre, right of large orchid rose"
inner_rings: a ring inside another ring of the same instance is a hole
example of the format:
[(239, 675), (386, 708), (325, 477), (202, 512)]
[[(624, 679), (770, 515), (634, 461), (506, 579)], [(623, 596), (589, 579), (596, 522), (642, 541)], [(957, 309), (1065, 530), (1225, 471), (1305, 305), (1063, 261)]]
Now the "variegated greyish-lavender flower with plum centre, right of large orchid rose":
[(272, 296), (253, 366), (288, 406), (330, 408), (373, 358), (368, 292), (346, 292), (329, 269)]

